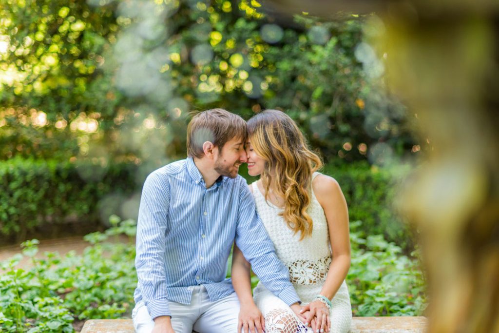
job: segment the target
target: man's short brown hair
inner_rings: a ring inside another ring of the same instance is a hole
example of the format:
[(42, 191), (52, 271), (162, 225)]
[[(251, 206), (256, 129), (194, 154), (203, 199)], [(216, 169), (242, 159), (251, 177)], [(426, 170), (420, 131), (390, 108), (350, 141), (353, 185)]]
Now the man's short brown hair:
[(197, 113), (187, 126), (187, 155), (202, 158), (203, 143), (210, 141), (220, 150), (233, 138), (246, 140), (246, 121), (224, 109)]

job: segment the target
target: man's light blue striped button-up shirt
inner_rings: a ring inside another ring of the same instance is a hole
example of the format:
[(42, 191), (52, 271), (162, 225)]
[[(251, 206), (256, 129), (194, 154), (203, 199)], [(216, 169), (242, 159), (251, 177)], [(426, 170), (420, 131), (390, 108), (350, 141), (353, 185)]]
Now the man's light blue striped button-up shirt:
[(207, 189), (192, 158), (152, 172), (137, 224), (135, 302), (144, 301), (154, 319), (171, 316), (169, 300), (190, 304), (191, 286), (205, 286), (212, 302), (230, 295), (234, 239), (268, 290), (288, 305), (299, 301), (243, 177), (220, 177)]

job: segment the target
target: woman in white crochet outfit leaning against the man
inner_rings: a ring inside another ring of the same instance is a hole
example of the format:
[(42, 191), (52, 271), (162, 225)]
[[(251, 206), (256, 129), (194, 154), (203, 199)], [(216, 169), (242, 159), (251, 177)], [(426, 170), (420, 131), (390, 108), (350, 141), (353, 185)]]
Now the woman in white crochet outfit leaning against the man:
[[(348, 332), (352, 309), (344, 280), (350, 238), (338, 183), (315, 172), (321, 160), (281, 111), (265, 110), (248, 121), (246, 148), (249, 174), (260, 175), (250, 185), (258, 215), (304, 307), (290, 308), (261, 283), (251, 298), (250, 265), (235, 247), (232, 281), (241, 301), (240, 327), (245, 332), (260, 327), (267, 333)], [(255, 320), (260, 311), (264, 323)]]

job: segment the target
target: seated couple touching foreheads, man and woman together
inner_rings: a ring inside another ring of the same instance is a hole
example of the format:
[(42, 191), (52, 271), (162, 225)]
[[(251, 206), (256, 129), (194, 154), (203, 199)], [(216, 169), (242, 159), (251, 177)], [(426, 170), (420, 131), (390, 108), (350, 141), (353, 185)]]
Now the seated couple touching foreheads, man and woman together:
[[(322, 163), (293, 120), (203, 111), (188, 125), (187, 151), (144, 183), (136, 332), (348, 332), (346, 202), (315, 172)], [(242, 163), (260, 175), (250, 186)], [(250, 268), (260, 279), (253, 296)]]

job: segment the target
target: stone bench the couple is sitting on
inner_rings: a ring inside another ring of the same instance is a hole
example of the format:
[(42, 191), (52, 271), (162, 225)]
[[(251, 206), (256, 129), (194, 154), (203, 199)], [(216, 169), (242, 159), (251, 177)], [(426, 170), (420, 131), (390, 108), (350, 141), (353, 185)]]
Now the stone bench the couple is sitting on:
[[(354, 317), (350, 333), (424, 333), (425, 317)], [(131, 319), (94, 319), (81, 333), (135, 333)]]

